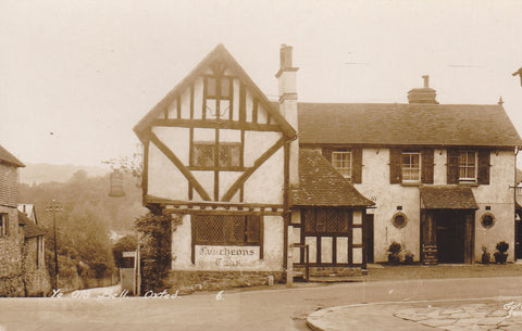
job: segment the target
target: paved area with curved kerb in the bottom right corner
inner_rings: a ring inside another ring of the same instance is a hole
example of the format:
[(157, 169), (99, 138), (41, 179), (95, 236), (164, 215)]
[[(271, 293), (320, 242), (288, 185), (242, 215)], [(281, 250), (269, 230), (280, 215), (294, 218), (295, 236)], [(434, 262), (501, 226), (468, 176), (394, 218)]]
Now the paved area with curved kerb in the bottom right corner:
[(310, 314), (307, 324), (314, 331), (522, 330), (522, 296), (338, 306)]

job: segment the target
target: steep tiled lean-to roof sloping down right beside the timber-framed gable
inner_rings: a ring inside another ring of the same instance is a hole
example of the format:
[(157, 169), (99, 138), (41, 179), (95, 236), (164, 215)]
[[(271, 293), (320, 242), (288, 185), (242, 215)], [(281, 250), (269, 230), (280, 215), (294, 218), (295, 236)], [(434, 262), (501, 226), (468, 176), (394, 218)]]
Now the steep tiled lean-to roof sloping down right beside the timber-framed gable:
[(371, 206), (323, 155), (299, 151), (299, 188), (293, 190), (290, 204), (297, 206)]

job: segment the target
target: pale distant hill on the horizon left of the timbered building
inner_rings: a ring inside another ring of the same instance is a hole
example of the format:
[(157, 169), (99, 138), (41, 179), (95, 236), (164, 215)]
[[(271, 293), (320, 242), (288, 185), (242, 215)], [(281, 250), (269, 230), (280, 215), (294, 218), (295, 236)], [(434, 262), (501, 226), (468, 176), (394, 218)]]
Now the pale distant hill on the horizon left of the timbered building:
[(26, 163), (25, 168), (20, 168), (20, 181), (28, 184), (41, 182), (65, 182), (77, 170), (84, 170), (88, 176), (104, 176), (110, 170), (102, 166), (75, 166), (72, 164), (54, 165), (47, 163)]

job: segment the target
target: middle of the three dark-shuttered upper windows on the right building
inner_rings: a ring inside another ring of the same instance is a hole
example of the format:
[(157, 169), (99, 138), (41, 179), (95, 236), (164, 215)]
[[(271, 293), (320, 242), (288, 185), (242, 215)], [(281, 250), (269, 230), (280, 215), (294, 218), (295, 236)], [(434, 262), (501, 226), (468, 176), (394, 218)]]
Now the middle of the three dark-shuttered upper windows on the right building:
[(389, 182), (390, 183), (433, 183), (434, 150), (389, 149)]

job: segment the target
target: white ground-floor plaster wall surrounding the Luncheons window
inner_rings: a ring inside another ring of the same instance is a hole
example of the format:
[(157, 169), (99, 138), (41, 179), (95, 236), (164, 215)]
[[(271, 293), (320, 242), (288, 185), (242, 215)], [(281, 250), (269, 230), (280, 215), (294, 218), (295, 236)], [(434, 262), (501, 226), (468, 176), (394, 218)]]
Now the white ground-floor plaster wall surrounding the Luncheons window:
[[(283, 270), (283, 228), (282, 216), (264, 217), (264, 255), (249, 265), (240, 267), (212, 266), (209, 263), (191, 262), (190, 215), (183, 216), (183, 224), (172, 233), (172, 269), (173, 270), (237, 270), (237, 271), (282, 271)], [(196, 246), (196, 250), (200, 246)], [(244, 246), (237, 246), (241, 249)], [(259, 249), (257, 249), (259, 250)], [(197, 256), (197, 255), (196, 255)]]

